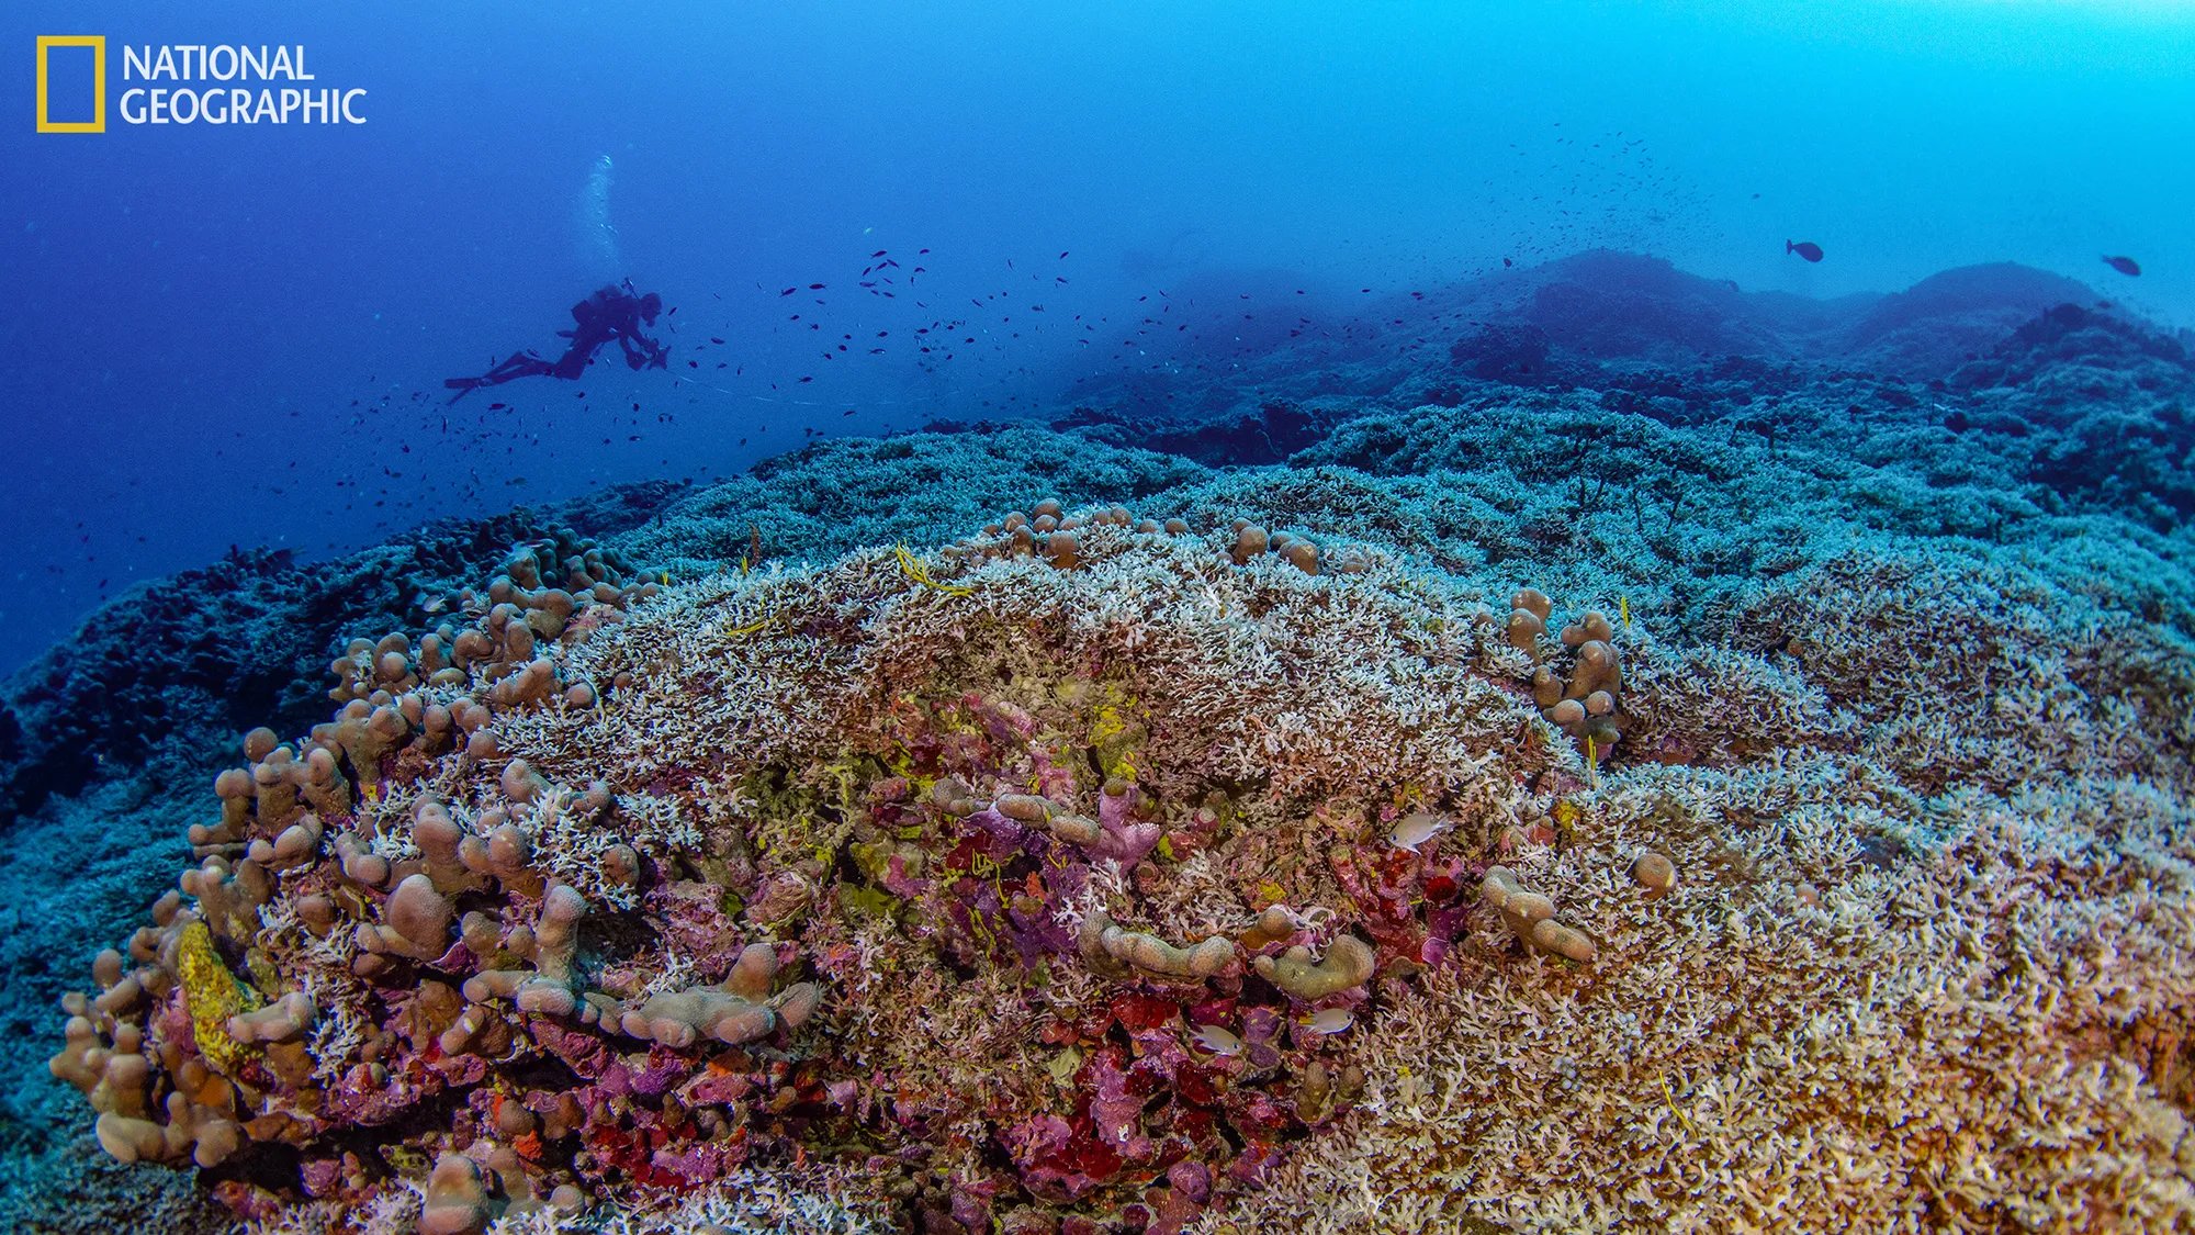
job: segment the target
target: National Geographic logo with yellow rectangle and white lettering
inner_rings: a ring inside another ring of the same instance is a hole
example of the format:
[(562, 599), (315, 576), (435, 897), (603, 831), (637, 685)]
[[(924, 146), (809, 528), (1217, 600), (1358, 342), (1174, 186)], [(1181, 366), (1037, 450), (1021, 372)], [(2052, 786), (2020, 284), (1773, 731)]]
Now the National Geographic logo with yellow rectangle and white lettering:
[[(123, 44), (121, 86), (125, 125), (367, 123), (367, 92), (320, 86), (303, 44)], [(108, 132), (105, 35), (37, 37), (37, 132)]]

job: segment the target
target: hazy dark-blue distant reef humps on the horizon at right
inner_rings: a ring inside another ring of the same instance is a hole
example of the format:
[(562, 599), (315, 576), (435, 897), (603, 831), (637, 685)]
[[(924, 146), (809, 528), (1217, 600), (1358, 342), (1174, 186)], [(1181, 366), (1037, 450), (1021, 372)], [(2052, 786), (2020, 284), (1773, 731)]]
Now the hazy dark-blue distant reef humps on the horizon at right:
[[(1209, 466), (1258, 466), (1335, 459), (1321, 442), (1389, 409), (1541, 391), (1855, 457), (1912, 431), (1975, 435), (1969, 455), (2008, 488), (2171, 527), (2195, 514), (2191, 356), (2195, 332), (2008, 262), (1815, 301), (1743, 292), (1657, 257), (1583, 253), (1389, 299), (1346, 332), (1256, 356), (1181, 356), (1089, 378), (1051, 424)], [(1376, 453), (1337, 461), (1418, 464)]]

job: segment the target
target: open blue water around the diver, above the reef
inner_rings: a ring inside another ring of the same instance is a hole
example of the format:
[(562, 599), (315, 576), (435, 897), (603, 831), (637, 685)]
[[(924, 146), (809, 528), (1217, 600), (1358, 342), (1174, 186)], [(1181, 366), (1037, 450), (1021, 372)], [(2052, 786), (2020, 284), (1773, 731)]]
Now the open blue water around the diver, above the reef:
[[(125, 44), (303, 46), (367, 123), (37, 134), (37, 35), (105, 35), (112, 90)], [(230, 545), (1060, 411), (1504, 262), (2022, 262), (2195, 321), (2180, 4), (37, 0), (0, 48), (7, 668)], [(617, 277), (667, 371), (443, 404)]]

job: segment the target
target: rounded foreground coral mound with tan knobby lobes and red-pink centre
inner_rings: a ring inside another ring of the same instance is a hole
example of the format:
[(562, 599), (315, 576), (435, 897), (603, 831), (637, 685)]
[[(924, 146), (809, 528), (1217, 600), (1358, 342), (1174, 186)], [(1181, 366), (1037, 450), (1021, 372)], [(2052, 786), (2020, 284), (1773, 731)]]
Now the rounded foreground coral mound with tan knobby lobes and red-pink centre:
[(353, 644), (303, 745), (246, 736), (55, 1075), (246, 1213), (417, 1187), (459, 1233), (830, 1154), (902, 1222), (1181, 1228), (1464, 938), (1464, 837), (1398, 820), (1490, 844), (1585, 771), (1490, 611), (1247, 527), (1040, 503), (959, 565), (555, 602), (522, 552), (465, 628)]

